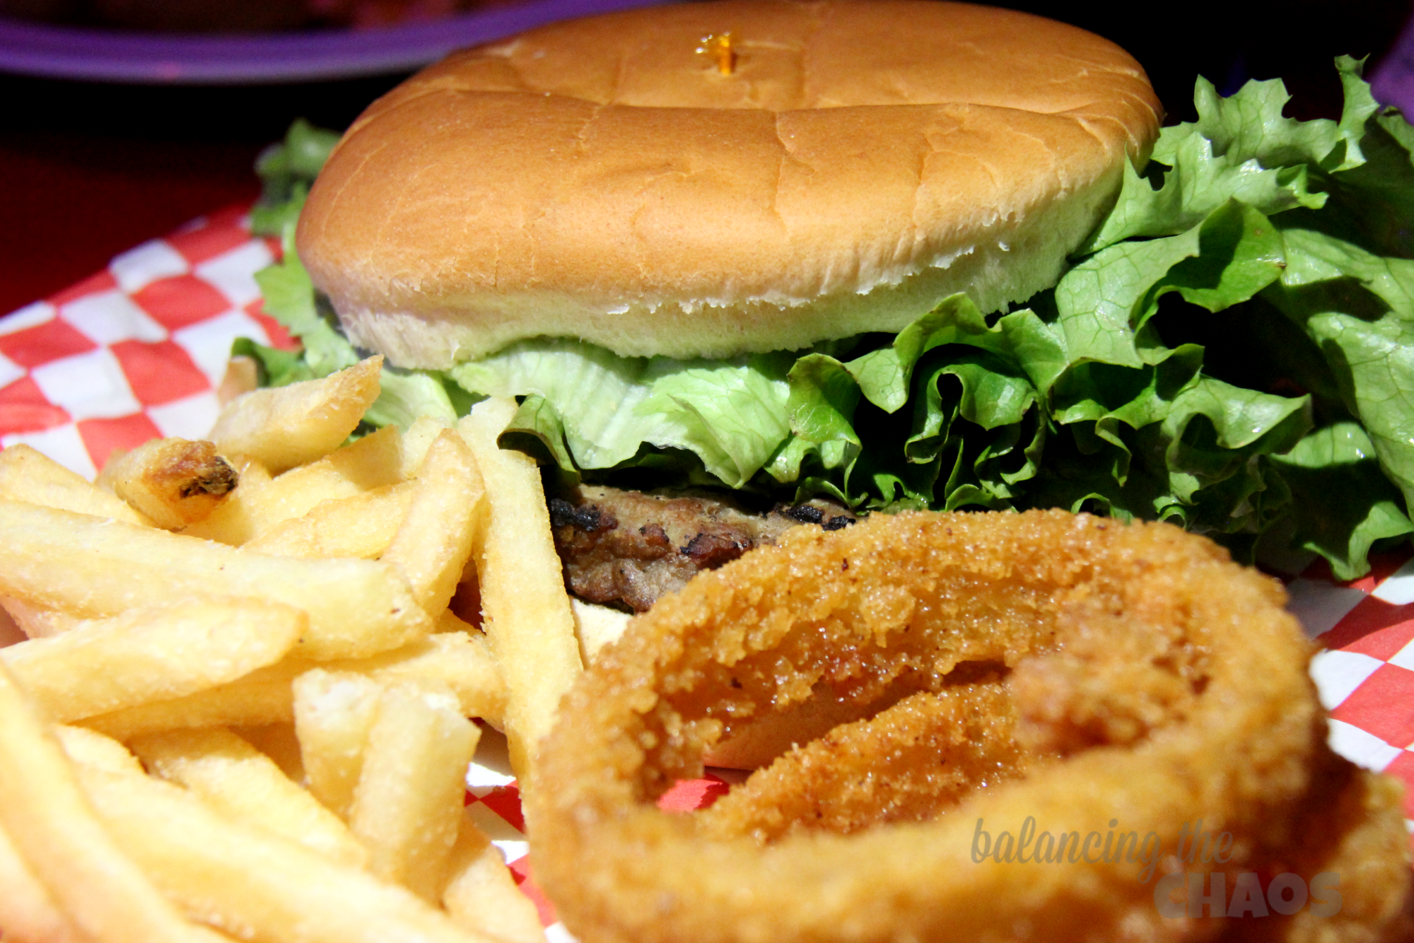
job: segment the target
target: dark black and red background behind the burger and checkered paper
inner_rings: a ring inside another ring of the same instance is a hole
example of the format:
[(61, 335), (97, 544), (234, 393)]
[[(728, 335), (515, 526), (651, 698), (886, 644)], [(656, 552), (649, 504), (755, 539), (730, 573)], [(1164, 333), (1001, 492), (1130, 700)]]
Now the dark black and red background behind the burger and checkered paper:
[[(1394, 44), (1410, 0), (1004, 3), (1099, 33), (1134, 54), (1169, 110), (1193, 78), (1223, 92), (1282, 78), (1288, 115), (1333, 117), (1335, 55)], [(188, 219), (256, 192), (252, 161), (297, 116), (348, 124), (402, 76), (296, 86), (150, 88), (0, 74), (0, 315), (54, 294)]]

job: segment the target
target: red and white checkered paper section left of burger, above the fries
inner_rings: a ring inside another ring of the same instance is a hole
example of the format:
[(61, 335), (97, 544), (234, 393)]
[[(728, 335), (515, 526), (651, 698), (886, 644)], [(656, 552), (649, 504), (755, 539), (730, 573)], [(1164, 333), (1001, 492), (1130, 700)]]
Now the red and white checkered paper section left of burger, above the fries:
[(290, 345), (253, 277), (276, 250), (232, 208), (0, 318), (0, 447), (28, 443), (92, 478), (115, 448), (204, 437), (230, 342)]

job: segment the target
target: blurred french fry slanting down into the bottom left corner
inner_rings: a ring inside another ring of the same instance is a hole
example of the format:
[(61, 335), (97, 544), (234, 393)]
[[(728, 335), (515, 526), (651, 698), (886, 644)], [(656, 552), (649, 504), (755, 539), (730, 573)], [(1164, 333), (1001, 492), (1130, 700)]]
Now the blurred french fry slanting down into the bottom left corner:
[(219, 939), (187, 923), (119, 850), (64, 749), (3, 667), (0, 827), (86, 936), (113, 943)]

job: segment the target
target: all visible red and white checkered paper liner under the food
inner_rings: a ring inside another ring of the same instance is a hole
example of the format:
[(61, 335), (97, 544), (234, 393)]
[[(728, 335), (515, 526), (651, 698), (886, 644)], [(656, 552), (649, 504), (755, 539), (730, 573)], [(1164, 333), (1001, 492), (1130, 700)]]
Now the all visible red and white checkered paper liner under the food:
[[(235, 338), (293, 346), (262, 310), (255, 273), (279, 252), (250, 235), (246, 206), (197, 219), (126, 252), (59, 294), (0, 318), (0, 448), (25, 443), (93, 476), (115, 448), (204, 437)], [(1288, 574), (1291, 609), (1325, 648), (1311, 673), (1331, 744), (1404, 780), (1414, 830), (1414, 560), (1379, 556), (1349, 584), (1321, 563)], [(551, 940), (571, 939), (529, 878), (520, 800), (495, 735), (468, 773), (467, 802), (536, 901)], [(663, 804), (696, 809), (721, 779), (679, 783)]]

